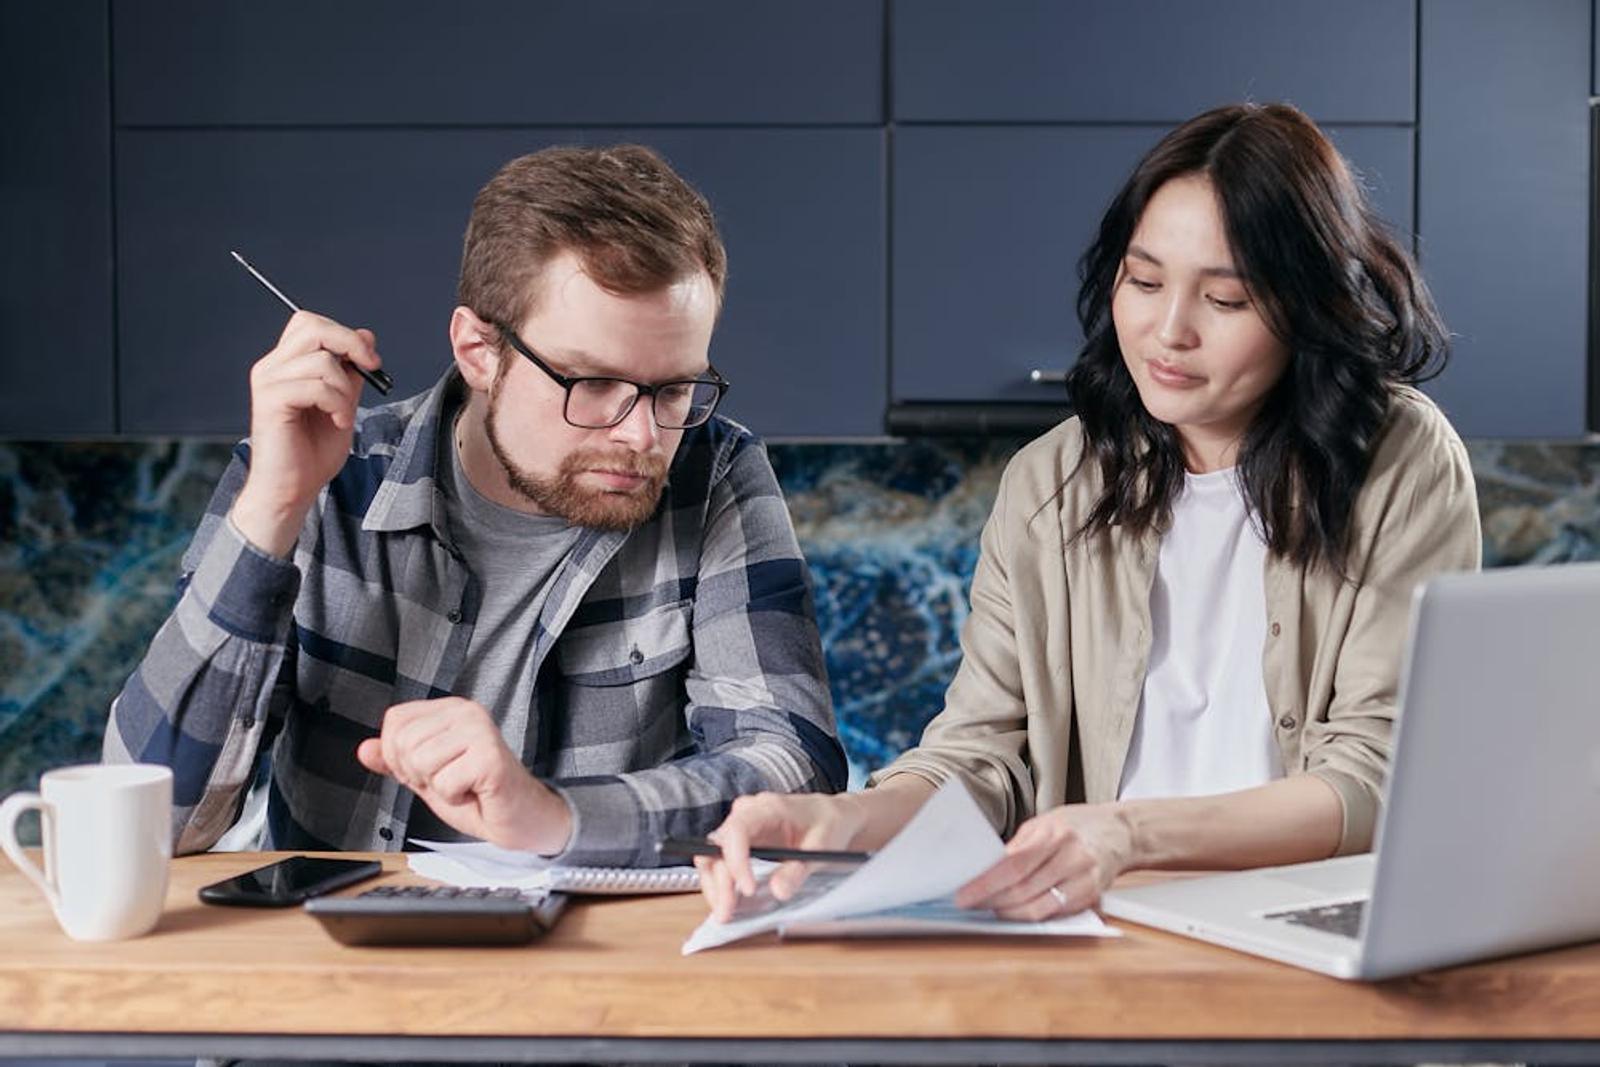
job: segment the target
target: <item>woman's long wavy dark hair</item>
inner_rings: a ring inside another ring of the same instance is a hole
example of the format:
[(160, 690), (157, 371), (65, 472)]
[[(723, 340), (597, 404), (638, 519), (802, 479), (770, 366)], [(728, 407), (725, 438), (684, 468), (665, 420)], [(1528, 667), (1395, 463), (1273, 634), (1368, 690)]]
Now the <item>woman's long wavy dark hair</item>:
[(1411, 258), (1326, 136), (1285, 104), (1208, 110), (1166, 134), (1078, 262), (1083, 352), (1067, 392), (1104, 491), (1078, 537), (1165, 526), (1184, 485), (1178, 432), (1144, 410), (1112, 325), (1128, 242), (1155, 190), (1210, 179), (1234, 266), (1290, 362), (1238, 450), (1245, 496), (1278, 557), (1342, 569), (1350, 512), (1402, 382), (1443, 370), (1445, 326)]

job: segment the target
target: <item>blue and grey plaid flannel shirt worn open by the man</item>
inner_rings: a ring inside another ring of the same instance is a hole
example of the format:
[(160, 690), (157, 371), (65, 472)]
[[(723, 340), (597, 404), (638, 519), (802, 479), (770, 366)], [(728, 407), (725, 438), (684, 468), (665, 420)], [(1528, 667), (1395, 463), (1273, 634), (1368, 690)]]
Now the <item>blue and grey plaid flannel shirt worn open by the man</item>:
[[(461, 390), (451, 371), (360, 413), (293, 561), (227, 522), (235, 450), (106, 731), (107, 761), (173, 768), (178, 851), (234, 822), (267, 747), (267, 848), (402, 846), (414, 795), (355, 747), (392, 704), (450, 696), (467, 653), (482, 589), (435, 482)], [(741, 793), (843, 789), (810, 577), (747, 430), (686, 430), (656, 515), (582, 531), (550, 581), (534, 707), (509, 742), (573, 811), (563, 862), (654, 865), (656, 838), (706, 833)]]

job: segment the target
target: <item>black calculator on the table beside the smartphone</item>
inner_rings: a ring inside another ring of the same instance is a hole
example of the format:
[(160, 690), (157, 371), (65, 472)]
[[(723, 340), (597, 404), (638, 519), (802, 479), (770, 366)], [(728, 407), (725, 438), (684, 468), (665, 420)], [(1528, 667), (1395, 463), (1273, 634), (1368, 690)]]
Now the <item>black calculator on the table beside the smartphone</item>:
[(378, 886), (306, 902), (346, 945), (523, 945), (565, 907), (565, 893), (458, 886)]

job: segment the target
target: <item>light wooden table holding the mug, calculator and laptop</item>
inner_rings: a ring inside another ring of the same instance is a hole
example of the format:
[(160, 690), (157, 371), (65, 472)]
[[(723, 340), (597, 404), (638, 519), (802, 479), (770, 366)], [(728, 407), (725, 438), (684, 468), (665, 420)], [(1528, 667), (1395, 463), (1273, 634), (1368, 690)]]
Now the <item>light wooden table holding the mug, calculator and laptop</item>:
[(195, 899), (274, 857), (176, 861), (157, 929), (109, 944), (0, 864), (0, 1056), (1600, 1062), (1600, 945), (1363, 985), (1133, 925), (683, 957), (683, 894), (579, 901), (526, 947), (347, 949), (299, 909)]

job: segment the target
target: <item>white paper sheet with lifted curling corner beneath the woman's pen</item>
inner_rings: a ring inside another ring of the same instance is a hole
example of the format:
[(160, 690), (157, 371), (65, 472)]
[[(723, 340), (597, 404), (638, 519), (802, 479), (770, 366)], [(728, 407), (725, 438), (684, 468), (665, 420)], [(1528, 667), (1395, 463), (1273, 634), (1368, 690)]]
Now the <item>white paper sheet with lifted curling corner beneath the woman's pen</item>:
[[(742, 899), (726, 923), (712, 918), (701, 923), (683, 942), (683, 955), (771, 929), (939, 901), (1003, 854), (1005, 846), (978, 805), (958, 781), (950, 779), (866, 864), (856, 869), (822, 867), (787, 902), (774, 899), (763, 886), (755, 896)], [(1093, 921), (1099, 923), (1098, 918)]]

